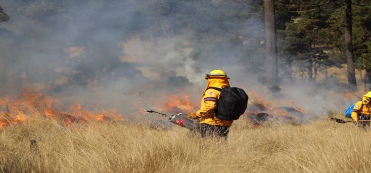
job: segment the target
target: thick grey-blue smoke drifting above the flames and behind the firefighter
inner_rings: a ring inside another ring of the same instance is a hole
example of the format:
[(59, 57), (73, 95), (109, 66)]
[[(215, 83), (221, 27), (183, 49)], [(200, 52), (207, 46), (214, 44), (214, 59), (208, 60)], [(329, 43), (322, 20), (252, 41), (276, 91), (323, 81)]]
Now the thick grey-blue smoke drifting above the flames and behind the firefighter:
[(334, 87), (282, 83), (279, 97), (262, 87), (263, 16), (241, 3), (0, 0), (11, 16), (0, 23), (0, 94), (37, 88), (66, 105), (99, 102), (130, 115), (172, 94), (198, 103), (204, 75), (222, 69), (247, 93), (315, 115), (337, 108)]

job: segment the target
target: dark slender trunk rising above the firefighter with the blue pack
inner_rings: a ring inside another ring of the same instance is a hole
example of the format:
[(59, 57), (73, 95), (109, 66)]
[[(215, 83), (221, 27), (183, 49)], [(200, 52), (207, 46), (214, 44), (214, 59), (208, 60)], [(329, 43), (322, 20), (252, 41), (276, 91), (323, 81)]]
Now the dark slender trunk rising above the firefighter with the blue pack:
[(354, 72), (354, 58), (352, 47), (352, 0), (345, 2), (345, 55), (347, 58), (348, 84), (357, 86), (356, 74)]

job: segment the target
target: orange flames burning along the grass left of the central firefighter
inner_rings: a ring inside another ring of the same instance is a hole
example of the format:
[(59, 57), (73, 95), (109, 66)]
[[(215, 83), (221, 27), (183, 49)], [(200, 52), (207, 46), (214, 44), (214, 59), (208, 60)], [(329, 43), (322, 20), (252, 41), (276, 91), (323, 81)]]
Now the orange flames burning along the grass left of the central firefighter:
[(99, 104), (72, 104), (65, 111), (59, 111), (61, 108), (57, 105), (60, 105), (58, 98), (33, 90), (23, 90), (15, 96), (0, 97), (0, 129), (23, 123), (37, 115), (57, 119), (67, 125), (80, 121), (124, 121), (124, 117), (116, 109), (105, 110), (100, 108)]

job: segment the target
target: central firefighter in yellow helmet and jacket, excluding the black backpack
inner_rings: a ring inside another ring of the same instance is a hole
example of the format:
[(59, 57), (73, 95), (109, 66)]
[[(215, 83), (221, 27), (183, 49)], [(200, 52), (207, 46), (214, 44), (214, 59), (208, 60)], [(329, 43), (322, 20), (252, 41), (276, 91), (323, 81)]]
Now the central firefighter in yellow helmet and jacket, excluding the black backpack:
[(213, 70), (206, 75), (207, 86), (202, 94), (201, 108), (187, 115), (190, 119), (199, 119), (199, 132), (201, 137), (222, 136), (227, 137), (233, 121), (220, 120), (214, 116), (220, 91), (209, 87), (230, 87), (226, 73), (222, 70)]

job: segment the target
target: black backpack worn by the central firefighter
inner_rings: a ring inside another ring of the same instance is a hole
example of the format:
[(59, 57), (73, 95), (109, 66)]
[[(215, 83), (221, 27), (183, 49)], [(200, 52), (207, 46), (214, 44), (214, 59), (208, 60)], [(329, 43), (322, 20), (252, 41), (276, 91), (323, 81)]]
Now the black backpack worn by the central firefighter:
[(249, 97), (243, 89), (238, 87), (208, 87), (207, 89), (209, 88), (220, 91), (214, 116), (221, 120), (237, 120), (245, 112)]

